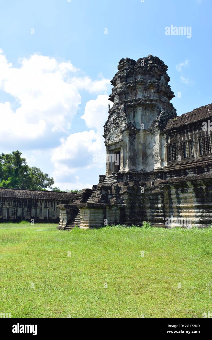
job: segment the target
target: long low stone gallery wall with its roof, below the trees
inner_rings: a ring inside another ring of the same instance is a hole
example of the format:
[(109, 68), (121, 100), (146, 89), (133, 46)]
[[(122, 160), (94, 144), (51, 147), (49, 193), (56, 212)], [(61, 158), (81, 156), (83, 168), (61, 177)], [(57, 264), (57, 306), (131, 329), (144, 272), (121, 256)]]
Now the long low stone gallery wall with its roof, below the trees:
[(58, 204), (71, 204), (74, 193), (0, 188), (0, 222), (59, 221)]

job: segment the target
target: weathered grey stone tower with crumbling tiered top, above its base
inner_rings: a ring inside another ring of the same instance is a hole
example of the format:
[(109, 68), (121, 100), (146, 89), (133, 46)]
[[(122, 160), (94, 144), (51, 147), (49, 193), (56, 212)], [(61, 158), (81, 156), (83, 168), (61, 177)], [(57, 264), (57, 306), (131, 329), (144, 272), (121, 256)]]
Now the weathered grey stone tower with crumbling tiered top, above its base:
[(164, 166), (164, 142), (158, 134), (176, 110), (168, 82), (167, 66), (149, 54), (135, 60), (121, 59), (112, 79), (113, 106), (104, 125), (106, 175), (116, 171), (151, 171)]

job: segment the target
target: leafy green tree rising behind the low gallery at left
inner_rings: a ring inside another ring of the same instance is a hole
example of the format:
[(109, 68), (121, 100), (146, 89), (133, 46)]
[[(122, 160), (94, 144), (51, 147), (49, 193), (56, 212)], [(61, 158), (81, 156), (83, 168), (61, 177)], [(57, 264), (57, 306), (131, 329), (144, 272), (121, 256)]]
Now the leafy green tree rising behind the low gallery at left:
[(5, 188), (46, 190), (54, 184), (53, 177), (37, 167), (29, 167), (20, 151), (0, 155), (0, 186)]

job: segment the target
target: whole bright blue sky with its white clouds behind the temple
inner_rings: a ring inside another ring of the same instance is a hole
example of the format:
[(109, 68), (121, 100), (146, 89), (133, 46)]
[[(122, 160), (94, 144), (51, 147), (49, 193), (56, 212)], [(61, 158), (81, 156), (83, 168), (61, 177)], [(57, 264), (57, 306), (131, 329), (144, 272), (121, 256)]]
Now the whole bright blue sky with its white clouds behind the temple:
[[(93, 154), (104, 153), (121, 58), (162, 59), (178, 115), (212, 102), (211, 8), (211, 0), (0, 0), (0, 152), (20, 150), (61, 189), (97, 184), (105, 164)], [(191, 38), (165, 35), (171, 25), (191, 27)]]

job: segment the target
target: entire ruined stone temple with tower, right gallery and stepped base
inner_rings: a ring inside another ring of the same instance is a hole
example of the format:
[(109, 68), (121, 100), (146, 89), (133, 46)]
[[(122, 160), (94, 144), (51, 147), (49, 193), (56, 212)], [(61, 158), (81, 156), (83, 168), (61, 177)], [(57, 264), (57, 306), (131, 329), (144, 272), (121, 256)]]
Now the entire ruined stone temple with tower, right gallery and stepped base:
[(104, 125), (106, 174), (72, 205), (58, 206), (59, 229), (212, 222), (210, 124), (203, 128), (212, 104), (177, 116), (169, 81), (158, 57), (120, 60)]

